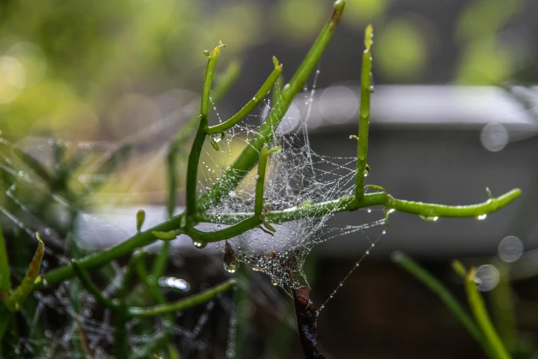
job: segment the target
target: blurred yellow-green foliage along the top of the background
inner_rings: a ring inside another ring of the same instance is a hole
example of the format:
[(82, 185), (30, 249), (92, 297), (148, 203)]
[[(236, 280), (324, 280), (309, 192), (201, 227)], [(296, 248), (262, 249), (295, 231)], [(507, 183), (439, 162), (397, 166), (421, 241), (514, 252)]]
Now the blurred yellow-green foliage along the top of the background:
[[(456, 82), (511, 78), (526, 54), (500, 33), (524, 6), (524, 0), (472, 0), (458, 9)], [(199, 91), (201, 51), (218, 39), (230, 42), (227, 52), (238, 57), (271, 36), (284, 46), (305, 45), (325, 7), (324, 0), (3, 1), (0, 126), (12, 139), (30, 133), (97, 138), (103, 124), (117, 121), (117, 101), (129, 102), (124, 95)], [(349, 27), (376, 21), (377, 71), (390, 82), (420, 82), (436, 71), (431, 57), (440, 34), (435, 19), (416, 9), (402, 12), (390, 0), (348, 3), (343, 21)]]

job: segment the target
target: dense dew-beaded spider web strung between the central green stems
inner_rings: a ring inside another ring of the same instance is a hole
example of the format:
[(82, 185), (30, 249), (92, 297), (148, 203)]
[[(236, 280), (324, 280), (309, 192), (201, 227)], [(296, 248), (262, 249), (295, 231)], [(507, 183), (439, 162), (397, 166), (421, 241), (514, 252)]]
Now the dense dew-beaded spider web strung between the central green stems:
[[(276, 129), (272, 146), (280, 146), (282, 149), (269, 156), (265, 178), (265, 212), (320, 204), (353, 194), (356, 158), (320, 155), (312, 151), (309, 143), (307, 128), (319, 74), (320, 71), (317, 70), (311, 89), (304, 87), (303, 94), (293, 102)], [(224, 175), (227, 164), (238, 155), (238, 149), (248, 146), (249, 140), (259, 129), (260, 120), (267, 116), (271, 107), (271, 101), (266, 100), (265, 105), (258, 109), (260, 115), (250, 115), (247, 120), (229, 129), (223, 136), (219, 135), (216, 140), (219, 140), (220, 153), (210, 147), (206, 148), (201, 164), (201, 193)], [(220, 116), (216, 117), (219, 122), (222, 121)], [(245, 173), (237, 175), (243, 176)], [(229, 188), (221, 202), (212, 206), (210, 213), (216, 215), (220, 221), (213, 230), (233, 224), (234, 221), (229, 218), (233, 218), (234, 214), (254, 212), (256, 178), (257, 172), (254, 168), (245, 175), (237, 188)], [(367, 211), (372, 212), (370, 209)], [(364, 211), (359, 211), (357, 221), (365, 221), (366, 216), (363, 216), (363, 213)], [(364, 257), (385, 234), (384, 228), (374, 231), (373, 235), (371, 231), (369, 235), (366, 233), (370, 228), (384, 225), (384, 216), (366, 224), (346, 226), (328, 224), (332, 217), (334, 213), (327, 213), (321, 217), (306, 217), (276, 224), (273, 226), (276, 229), (273, 234), (267, 228), (254, 228), (230, 242), (239, 261), (254, 270), (265, 272), (274, 285), (290, 290), (309, 285), (304, 272), (304, 262), (318, 244), (341, 235), (352, 235), (354, 240), (359, 239), (367, 244)], [(223, 243), (220, 248), (225, 249)], [(357, 261), (356, 267), (362, 258)], [(234, 271), (234, 265), (228, 265), (228, 269)], [(336, 290), (331, 297), (335, 292)]]

